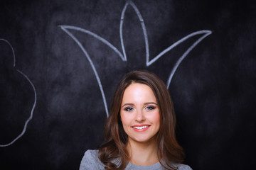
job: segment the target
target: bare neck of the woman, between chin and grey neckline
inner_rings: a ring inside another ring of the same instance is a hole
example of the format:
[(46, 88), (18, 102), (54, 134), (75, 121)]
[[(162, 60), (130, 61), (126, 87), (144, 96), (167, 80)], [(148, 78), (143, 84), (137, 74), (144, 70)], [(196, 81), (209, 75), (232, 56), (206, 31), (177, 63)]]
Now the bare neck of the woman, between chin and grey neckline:
[(132, 164), (149, 166), (159, 162), (156, 142), (153, 139), (148, 142), (135, 142), (129, 140), (127, 150)]

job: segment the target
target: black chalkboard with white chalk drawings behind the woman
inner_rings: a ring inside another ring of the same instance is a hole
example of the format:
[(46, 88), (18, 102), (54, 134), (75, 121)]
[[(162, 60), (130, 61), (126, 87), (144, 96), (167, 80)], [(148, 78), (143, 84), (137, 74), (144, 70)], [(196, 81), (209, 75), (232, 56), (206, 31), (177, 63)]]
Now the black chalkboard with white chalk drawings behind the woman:
[(193, 169), (256, 166), (256, 2), (0, 4), (0, 169), (78, 169), (113, 91), (148, 69), (169, 86)]

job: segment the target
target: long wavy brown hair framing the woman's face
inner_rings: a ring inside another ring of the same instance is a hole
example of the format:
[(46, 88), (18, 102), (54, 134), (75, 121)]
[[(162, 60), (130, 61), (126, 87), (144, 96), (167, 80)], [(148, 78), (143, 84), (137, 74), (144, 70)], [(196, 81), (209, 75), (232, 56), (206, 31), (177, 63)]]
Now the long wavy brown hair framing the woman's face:
[(183, 148), (176, 140), (174, 105), (164, 82), (145, 70), (129, 72), (117, 86), (110, 115), (105, 123), (104, 142), (99, 148), (99, 159), (105, 164), (105, 169), (124, 169), (129, 162), (128, 137), (122, 127), (120, 107), (124, 90), (132, 83), (146, 84), (156, 96), (160, 111), (160, 128), (156, 134), (157, 156), (164, 168), (174, 169), (170, 163), (181, 163), (185, 157)]

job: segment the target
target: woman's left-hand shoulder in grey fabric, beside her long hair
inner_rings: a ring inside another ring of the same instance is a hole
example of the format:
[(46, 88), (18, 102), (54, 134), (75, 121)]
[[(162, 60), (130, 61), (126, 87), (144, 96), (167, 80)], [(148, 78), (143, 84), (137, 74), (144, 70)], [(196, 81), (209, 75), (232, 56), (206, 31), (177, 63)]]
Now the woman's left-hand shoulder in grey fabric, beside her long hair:
[(104, 169), (104, 165), (98, 158), (98, 150), (87, 150), (82, 157), (80, 170)]

